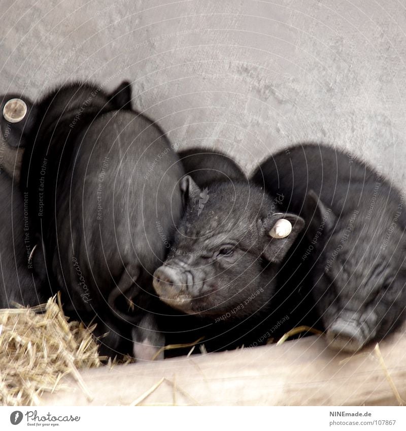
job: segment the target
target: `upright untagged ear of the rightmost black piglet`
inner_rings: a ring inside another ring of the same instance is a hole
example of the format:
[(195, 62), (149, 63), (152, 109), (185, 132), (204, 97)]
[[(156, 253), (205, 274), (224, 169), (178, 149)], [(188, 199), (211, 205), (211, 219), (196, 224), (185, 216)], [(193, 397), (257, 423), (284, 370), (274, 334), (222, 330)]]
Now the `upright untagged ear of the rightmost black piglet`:
[(303, 215), (306, 224), (309, 226), (307, 235), (310, 238), (313, 238), (314, 233), (320, 228), (329, 231), (334, 227), (337, 220), (335, 214), (320, 201), (319, 196), (313, 190), (310, 190), (306, 196)]

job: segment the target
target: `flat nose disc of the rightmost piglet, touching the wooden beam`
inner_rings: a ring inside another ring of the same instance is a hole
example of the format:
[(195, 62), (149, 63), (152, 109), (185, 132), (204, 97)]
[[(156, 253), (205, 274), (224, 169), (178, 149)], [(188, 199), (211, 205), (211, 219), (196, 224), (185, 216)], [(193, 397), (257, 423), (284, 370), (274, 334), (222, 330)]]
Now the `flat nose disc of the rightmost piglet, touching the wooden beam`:
[(344, 322), (336, 322), (327, 330), (327, 341), (330, 348), (348, 353), (355, 353), (365, 344), (360, 328)]

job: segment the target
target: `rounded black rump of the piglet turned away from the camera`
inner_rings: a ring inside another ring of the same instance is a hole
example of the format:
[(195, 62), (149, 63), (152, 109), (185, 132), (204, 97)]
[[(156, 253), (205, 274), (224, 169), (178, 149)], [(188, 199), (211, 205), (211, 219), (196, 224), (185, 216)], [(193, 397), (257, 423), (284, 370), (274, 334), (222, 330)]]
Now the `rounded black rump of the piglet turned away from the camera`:
[[(101, 115), (75, 145), (69, 175), (58, 179), (59, 242), (89, 262), (88, 279), (116, 279), (139, 262), (153, 272), (181, 217), (177, 154), (157, 126), (131, 111)], [(76, 276), (72, 264), (69, 271)]]

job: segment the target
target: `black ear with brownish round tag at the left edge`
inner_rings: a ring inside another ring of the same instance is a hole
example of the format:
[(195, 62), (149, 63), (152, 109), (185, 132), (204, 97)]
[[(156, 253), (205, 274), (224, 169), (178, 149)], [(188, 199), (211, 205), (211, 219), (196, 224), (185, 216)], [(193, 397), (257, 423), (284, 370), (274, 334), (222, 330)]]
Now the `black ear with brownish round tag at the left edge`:
[(37, 107), (27, 98), (14, 94), (0, 96), (2, 138), (11, 147), (25, 147), (32, 134)]

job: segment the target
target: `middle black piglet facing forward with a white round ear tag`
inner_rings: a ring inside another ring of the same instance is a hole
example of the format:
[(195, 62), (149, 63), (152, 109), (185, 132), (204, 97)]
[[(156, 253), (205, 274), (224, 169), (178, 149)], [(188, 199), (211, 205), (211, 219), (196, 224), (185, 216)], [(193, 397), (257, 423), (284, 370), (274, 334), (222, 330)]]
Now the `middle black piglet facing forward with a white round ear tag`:
[(186, 211), (154, 288), (163, 302), (200, 319), (210, 351), (259, 344), (264, 325), (275, 323), (278, 270), (304, 221), (247, 180), (200, 179), (202, 189), (185, 168)]

